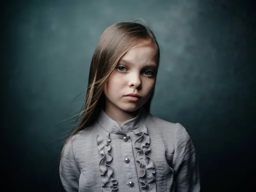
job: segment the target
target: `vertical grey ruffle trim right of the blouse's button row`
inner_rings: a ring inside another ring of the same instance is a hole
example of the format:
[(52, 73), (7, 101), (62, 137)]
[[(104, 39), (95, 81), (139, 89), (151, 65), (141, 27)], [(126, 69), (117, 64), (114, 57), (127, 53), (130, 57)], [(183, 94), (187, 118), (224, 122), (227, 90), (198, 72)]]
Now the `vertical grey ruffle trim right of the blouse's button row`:
[(147, 128), (145, 124), (143, 124), (140, 129), (135, 129), (133, 132), (139, 136), (134, 143), (134, 147), (139, 149), (139, 151), (136, 153), (135, 160), (140, 163), (140, 169), (144, 171), (143, 176), (139, 177), (139, 181), (144, 184), (140, 190), (142, 192), (156, 191), (154, 164), (153, 161), (146, 155), (151, 150), (149, 146), (150, 138)]

